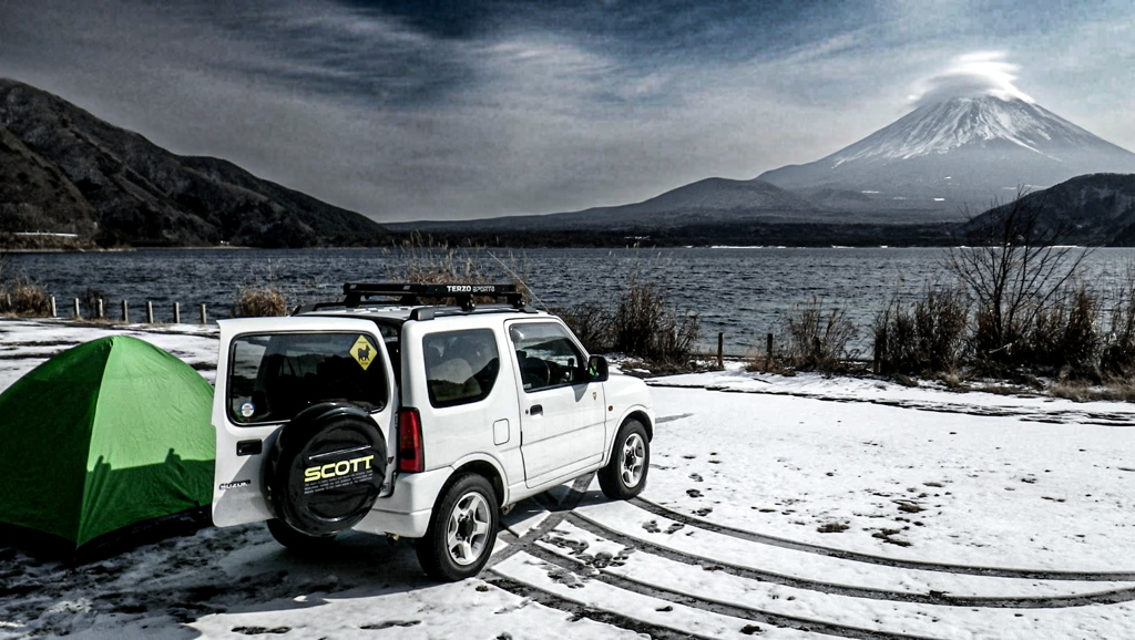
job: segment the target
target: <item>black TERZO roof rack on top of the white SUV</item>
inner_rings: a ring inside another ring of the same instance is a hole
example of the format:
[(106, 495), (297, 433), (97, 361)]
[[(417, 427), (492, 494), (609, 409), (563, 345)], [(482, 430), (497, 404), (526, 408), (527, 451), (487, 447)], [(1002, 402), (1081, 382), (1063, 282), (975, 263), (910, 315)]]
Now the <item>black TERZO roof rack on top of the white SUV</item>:
[[(320, 302), (305, 304), (295, 310), (295, 313), (308, 313), (327, 309), (330, 306), (343, 306), (354, 309), (362, 305), (395, 304), (402, 306), (424, 305), (424, 300), (435, 303), (446, 298), (456, 302), (462, 312), (472, 312), (477, 309), (473, 297), (504, 298), (512, 309), (520, 311), (535, 311), (524, 304), (524, 296), (515, 285), (473, 285), (473, 284), (426, 284), (426, 283), (346, 283), (343, 285), (343, 300), (338, 302)], [(373, 297), (396, 298), (386, 301), (371, 301)], [(428, 320), (434, 313), (415, 314)]]

